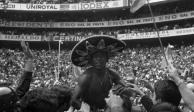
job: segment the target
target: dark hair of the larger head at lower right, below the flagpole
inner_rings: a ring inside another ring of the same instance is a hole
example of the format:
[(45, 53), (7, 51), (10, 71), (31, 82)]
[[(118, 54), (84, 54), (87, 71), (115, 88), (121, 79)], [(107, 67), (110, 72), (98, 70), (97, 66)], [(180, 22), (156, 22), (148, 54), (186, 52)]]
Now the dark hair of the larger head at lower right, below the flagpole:
[(178, 86), (171, 80), (159, 80), (154, 85), (156, 99), (178, 106), (181, 101), (181, 94)]

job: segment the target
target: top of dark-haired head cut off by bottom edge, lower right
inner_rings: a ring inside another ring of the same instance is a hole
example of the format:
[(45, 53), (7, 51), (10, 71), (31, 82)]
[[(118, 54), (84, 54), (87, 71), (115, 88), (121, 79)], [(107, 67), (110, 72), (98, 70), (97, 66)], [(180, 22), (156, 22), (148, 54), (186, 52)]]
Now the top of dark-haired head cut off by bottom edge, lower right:
[(150, 112), (181, 112), (177, 106), (167, 102), (162, 102), (154, 105)]

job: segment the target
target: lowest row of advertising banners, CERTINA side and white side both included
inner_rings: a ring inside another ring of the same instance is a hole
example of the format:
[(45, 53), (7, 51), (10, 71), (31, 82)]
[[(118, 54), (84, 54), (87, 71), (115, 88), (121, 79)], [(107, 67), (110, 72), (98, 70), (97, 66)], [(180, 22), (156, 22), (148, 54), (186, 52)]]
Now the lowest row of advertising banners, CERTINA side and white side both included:
[[(168, 38), (172, 36), (192, 35), (194, 34), (194, 27), (184, 29), (174, 29), (160, 31), (160, 37)], [(0, 35), (0, 40), (9, 41), (80, 41), (85, 39), (86, 36), (40, 36), (40, 35)], [(156, 32), (145, 32), (145, 33), (129, 33), (129, 34), (118, 34), (117, 38), (120, 40), (134, 40), (134, 39), (150, 39), (157, 38)]]

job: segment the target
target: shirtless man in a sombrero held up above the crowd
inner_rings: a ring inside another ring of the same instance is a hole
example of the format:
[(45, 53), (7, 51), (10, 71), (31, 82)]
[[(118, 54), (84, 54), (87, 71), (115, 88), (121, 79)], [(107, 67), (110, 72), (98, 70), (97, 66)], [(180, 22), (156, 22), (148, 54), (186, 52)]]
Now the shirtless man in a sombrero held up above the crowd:
[(90, 105), (92, 111), (105, 109), (104, 99), (113, 83), (123, 85), (118, 74), (108, 69), (106, 63), (110, 56), (122, 51), (124, 47), (124, 42), (108, 36), (92, 36), (75, 46), (71, 54), (73, 64), (88, 68), (79, 77), (78, 86), (75, 88), (72, 97), (74, 107), (79, 109), (77, 102), (82, 99)]

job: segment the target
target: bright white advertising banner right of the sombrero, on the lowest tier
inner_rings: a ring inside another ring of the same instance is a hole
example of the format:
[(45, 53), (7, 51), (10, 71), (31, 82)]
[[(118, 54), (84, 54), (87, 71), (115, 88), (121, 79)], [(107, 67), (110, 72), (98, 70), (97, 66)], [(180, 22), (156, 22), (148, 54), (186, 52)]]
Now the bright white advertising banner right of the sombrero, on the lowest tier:
[[(194, 27), (184, 28), (184, 29), (165, 30), (165, 31), (160, 31), (159, 34), (160, 34), (160, 37), (192, 35), (194, 34)], [(145, 33), (118, 34), (117, 38), (120, 40), (149, 39), (149, 38), (157, 38), (157, 33), (145, 32)]]

